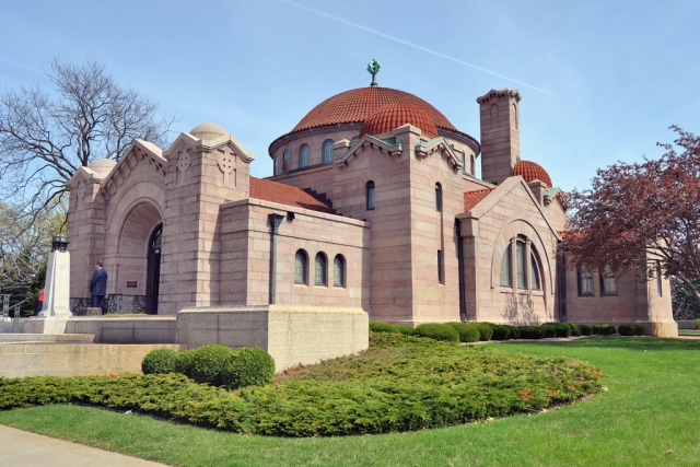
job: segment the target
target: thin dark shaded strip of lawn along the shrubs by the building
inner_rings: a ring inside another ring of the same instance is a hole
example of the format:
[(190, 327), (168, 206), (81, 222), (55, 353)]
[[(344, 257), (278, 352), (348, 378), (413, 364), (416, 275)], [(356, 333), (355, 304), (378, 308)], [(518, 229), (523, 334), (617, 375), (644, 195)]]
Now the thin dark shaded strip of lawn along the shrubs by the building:
[(628, 350), (688, 350), (699, 351), (700, 339), (663, 339), (657, 337), (586, 337), (568, 341), (506, 341), (518, 346), (546, 346), (567, 348), (607, 348)]

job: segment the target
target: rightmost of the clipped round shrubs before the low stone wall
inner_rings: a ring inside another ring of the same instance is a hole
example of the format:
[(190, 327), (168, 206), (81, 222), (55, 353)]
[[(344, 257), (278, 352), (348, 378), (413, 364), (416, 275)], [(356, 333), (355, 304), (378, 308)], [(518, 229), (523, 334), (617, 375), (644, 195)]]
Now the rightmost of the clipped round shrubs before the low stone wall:
[(257, 347), (242, 347), (233, 351), (221, 370), (221, 383), (229, 389), (265, 386), (275, 377), (275, 360)]

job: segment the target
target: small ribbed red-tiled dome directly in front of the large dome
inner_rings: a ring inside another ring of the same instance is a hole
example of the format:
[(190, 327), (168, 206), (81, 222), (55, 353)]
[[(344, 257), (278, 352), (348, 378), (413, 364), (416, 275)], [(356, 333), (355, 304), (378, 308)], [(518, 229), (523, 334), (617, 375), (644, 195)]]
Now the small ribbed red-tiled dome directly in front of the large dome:
[(423, 135), (438, 138), (438, 128), (428, 114), (417, 105), (402, 102), (386, 104), (370, 115), (362, 124), (360, 137), (388, 133), (406, 124), (420, 128)]

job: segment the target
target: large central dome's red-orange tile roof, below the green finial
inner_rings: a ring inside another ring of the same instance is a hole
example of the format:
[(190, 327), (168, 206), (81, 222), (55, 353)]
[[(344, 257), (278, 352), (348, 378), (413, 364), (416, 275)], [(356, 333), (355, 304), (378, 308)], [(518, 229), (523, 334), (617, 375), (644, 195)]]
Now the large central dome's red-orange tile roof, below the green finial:
[(380, 107), (393, 103), (416, 105), (431, 118), (435, 127), (458, 131), (440, 110), (422, 98), (404, 91), (374, 86), (346, 91), (327, 98), (312, 108), (291, 132), (327, 125), (361, 124)]

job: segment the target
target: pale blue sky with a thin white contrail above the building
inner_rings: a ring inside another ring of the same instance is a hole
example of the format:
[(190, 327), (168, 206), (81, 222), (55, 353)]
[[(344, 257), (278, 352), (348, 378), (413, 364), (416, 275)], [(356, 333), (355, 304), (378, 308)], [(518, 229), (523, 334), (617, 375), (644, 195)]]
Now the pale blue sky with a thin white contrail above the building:
[[(312, 11), (313, 10), (313, 11)], [(104, 62), (122, 86), (213, 121), (257, 155), (316, 104), (380, 85), (433, 104), (479, 138), (476, 97), (517, 87), (522, 155), (555, 185), (661, 155), (700, 132), (698, 1), (31, 1), (0, 3), (0, 83), (39, 83), (52, 57)]]

